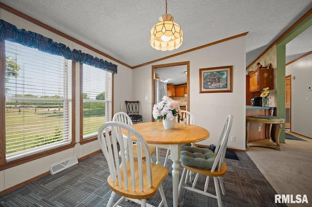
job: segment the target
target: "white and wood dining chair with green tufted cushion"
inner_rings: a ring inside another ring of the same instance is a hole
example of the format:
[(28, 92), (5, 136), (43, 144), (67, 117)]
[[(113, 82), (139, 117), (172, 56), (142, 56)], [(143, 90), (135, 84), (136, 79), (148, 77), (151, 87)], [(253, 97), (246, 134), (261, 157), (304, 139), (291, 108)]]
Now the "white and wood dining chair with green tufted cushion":
[[(199, 147), (181, 147), (180, 162), (181, 166), (184, 169), (179, 183), (179, 194), (181, 192), (181, 188), (185, 188), (186, 190), (191, 190), (193, 192), (217, 199), (218, 207), (222, 207), (219, 184), (222, 190), (222, 194), (225, 195), (222, 176), (226, 172), (226, 164), (224, 162), (224, 159), (232, 122), (233, 116), (229, 115), (223, 126), (220, 138), (215, 148), (215, 152), (212, 152), (209, 149), (203, 149)], [(192, 183), (192, 187), (187, 186), (187, 171), (192, 171), (196, 173), (195, 179)], [(198, 176), (200, 174), (206, 176), (204, 190), (195, 189)], [(207, 192), (210, 176), (214, 177), (215, 195)]]

